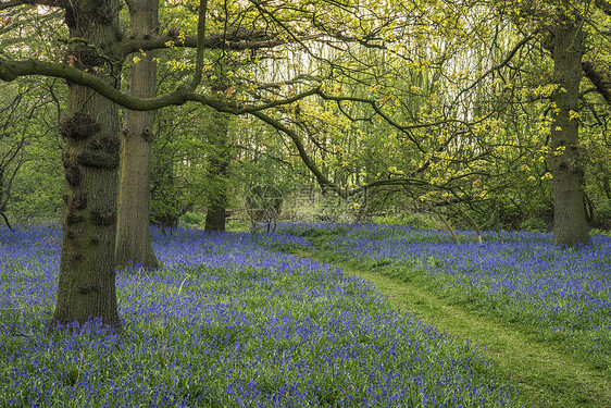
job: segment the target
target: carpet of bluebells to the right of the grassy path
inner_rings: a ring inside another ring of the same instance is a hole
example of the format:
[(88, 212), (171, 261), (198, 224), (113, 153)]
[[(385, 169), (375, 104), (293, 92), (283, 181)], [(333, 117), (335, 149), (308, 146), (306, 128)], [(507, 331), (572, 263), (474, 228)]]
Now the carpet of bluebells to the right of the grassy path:
[(472, 232), (461, 243), (447, 233), (372, 224), (287, 224), (310, 237), (327, 259), (444, 293), (466, 308), (563, 344), (578, 358), (611, 371), (611, 238), (558, 248), (550, 234)]

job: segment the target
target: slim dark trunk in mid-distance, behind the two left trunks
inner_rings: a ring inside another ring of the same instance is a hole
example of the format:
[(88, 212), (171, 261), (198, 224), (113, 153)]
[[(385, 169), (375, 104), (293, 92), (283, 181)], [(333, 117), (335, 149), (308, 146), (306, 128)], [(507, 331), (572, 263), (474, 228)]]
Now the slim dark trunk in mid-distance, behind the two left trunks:
[(210, 115), (210, 145), (212, 148), (208, 181), (209, 208), (205, 214), (205, 231), (225, 231), (225, 210), (227, 207), (227, 171), (229, 166), (228, 127), (229, 119), (216, 111)]

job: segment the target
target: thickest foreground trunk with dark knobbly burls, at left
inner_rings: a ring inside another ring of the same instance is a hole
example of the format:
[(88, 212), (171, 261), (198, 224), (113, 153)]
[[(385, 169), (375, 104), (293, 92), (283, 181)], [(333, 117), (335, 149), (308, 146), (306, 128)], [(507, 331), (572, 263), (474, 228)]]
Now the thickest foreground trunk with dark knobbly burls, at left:
[[(66, 10), (71, 36), (85, 38), (96, 49), (75, 42), (66, 60), (119, 87), (121, 66), (96, 50), (110, 53), (120, 40), (120, 1), (73, 4)], [(67, 115), (60, 131), (66, 139), (66, 205), (53, 320), (67, 324), (99, 318), (119, 326), (114, 272), (117, 107), (86, 87), (68, 84)]]

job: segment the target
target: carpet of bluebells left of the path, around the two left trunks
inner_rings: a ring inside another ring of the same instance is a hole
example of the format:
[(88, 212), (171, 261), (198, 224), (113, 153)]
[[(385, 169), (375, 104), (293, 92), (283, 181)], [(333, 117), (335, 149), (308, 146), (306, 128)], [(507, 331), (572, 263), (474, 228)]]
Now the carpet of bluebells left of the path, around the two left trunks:
[[(347, 238), (339, 249), (354, 245), (363, 257), (375, 245)], [(162, 269), (117, 274), (123, 334), (97, 322), (46, 333), (61, 231), (0, 228), (0, 406), (520, 405), (476, 349), (391, 309), (340, 269), (274, 249), (309, 247), (304, 238), (178, 230), (154, 231), (153, 240)], [(382, 242), (394, 257), (392, 240)]]

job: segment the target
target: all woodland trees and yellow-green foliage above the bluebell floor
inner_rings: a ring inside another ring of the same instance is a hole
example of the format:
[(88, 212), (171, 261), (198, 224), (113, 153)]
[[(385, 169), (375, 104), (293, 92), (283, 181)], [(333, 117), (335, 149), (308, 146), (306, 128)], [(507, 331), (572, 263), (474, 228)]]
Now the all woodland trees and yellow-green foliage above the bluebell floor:
[(62, 220), (59, 322), (119, 321), (114, 269), (158, 265), (151, 221), (552, 230), (559, 246), (611, 226), (604, 0), (0, 11), (0, 213)]

